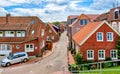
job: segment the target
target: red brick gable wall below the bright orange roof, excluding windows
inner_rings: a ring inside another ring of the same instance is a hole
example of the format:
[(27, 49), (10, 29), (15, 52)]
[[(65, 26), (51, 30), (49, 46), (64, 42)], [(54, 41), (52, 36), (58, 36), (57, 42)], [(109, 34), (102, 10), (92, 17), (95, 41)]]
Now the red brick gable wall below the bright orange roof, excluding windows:
[[(96, 38), (97, 32), (103, 32), (103, 42), (98, 42)], [(113, 32), (114, 41), (108, 42), (106, 40), (106, 33)], [(87, 50), (94, 50), (94, 60), (98, 60), (98, 50), (105, 50), (105, 57), (110, 57), (110, 50), (115, 49), (118, 35), (107, 25), (101, 26), (82, 46), (80, 46), (80, 52), (83, 54), (83, 58), (87, 60)]]

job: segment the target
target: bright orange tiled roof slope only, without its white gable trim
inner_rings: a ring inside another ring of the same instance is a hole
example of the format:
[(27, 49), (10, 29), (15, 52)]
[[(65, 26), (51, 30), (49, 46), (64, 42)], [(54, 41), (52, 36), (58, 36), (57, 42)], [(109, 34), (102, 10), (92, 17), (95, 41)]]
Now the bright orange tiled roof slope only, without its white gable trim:
[(72, 38), (77, 43), (80, 44), (83, 40), (85, 40), (86, 37), (94, 31), (101, 22), (90, 22), (85, 27), (83, 27), (81, 30), (79, 30), (77, 33), (75, 33)]

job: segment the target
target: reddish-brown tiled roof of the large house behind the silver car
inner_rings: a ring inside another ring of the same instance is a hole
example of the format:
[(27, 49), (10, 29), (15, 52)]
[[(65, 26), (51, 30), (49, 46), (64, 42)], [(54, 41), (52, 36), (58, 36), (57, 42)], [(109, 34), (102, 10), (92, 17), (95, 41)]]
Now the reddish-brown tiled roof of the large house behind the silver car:
[[(31, 24), (34, 20), (34, 24)], [(36, 16), (9, 16), (0, 17), (0, 30), (25, 30), (25, 37), (0, 37), (0, 43), (22, 43), (37, 39), (41, 36), (41, 27), (44, 23)], [(34, 34), (32, 31), (34, 30)]]

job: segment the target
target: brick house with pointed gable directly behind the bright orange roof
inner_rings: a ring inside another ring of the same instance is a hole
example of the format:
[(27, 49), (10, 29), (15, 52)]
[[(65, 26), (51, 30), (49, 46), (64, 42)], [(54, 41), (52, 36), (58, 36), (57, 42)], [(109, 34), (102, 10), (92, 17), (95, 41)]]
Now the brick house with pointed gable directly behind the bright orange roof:
[(72, 35), (82, 29), (87, 23), (94, 22), (98, 14), (81, 14), (79, 16), (68, 16), (67, 35), (69, 38), (69, 47), (72, 48)]

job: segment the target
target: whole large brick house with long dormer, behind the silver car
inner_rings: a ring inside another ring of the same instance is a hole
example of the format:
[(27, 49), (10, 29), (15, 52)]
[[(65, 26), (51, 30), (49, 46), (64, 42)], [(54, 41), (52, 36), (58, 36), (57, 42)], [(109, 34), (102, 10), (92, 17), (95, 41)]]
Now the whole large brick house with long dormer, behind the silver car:
[(25, 51), (38, 55), (46, 44), (44, 23), (36, 16), (0, 17), (0, 55)]

